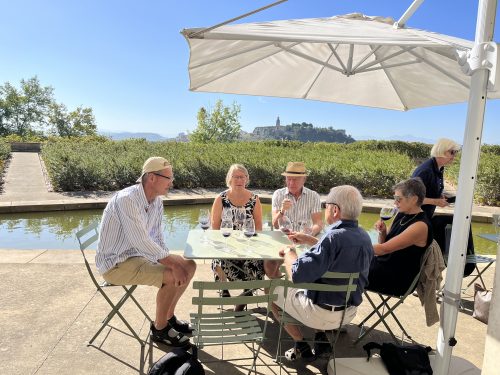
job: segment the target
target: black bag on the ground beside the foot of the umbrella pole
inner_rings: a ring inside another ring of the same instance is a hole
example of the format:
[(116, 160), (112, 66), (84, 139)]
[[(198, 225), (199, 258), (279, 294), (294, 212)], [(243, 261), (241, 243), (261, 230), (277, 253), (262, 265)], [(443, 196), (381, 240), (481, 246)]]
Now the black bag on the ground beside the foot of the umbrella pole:
[(363, 345), (363, 349), (370, 360), (372, 349), (380, 350), (380, 357), (389, 375), (432, 375), (429, 362), (429, 346), (420, 345), (396, 345), (393, 343), (369, 342)]

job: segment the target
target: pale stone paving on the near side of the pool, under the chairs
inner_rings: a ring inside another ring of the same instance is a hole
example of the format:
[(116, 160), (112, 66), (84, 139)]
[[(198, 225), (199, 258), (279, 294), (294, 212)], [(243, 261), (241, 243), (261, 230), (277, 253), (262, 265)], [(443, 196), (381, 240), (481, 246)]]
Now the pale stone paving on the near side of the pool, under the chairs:
[[(486, 273), (489, 286), (492, 285), (493, 274), (494, 270)], [(96, 295), (79, 251), (0, 250), (0, 279), (4, 283), (0, 292), (0, 374), (139, 373), (140, 346), (131, 336), (120, 331), (124, 327), (116, 318), (113, 325), (119, 330), (105, 329), (93, 346), (87, 346), (87, 341), (107, 313), (108, 306), (100, 295)], [(211, 280), (210, 265), (199, 262), (195, 279)], [(153, 287), (139, 287), (135, 293), (152, 316), (155, 293)], [(111, 295), (118, 297), (118, 293), (113, 291)], [(193, 312), (192, 297), (193, 290), (188, 288), (178, 304), (178, 316), (186, 318), (189, 312)], [(463, 298), (465, 309), (458, 316), (458, 344), (453, 354), (481, 368), (487, 326), (471, 316), (470, 291)], [(435, 348), (438, 324), (426, 326), (425, 314), (418, 298), (410, 296), (398, 310), (399, 318), (413, 339)], [(369, 306), (365, 301), (353, 323), (359, 322), (368, 311)], [(168, 348), (151, 344), (148, 340), (148, 324), (133, 304), (127, 303), (123, 313), (147, 341), (147, 370), (150, 359), (156, 361)], [(391, 323), (390, 326), (396, 334), (399, 332), (395, 324)], [(358, 333), (359, 328), (351, 324), (347, 332), (341, 334), (336, 346), (338, 358), (363, 358), (364, 343), (390, 341), (389, 334), (379, 326), (360, 344), (354, 345)], [(278, 373), (272, 360), (277, 334), (278, 325), (272, 321), (270, 339), (265, 342), (260, 356), (266, 366), (259, 366), (260, 374)], [(241, 358), (248, 353), (242, 345), (231, 346), (227, 351), (230, 358)], [(204, 349), (201, 358), (220, 358), (220, 352), (216, 348)], [(248, 365), (248, 361), (225, 361), (207, 364), (205, 369), (207, 374), (243, 374), (246, 371), (239, 366), (245, 364)], [(306, 375), (321, 374), (326, 373), (326, 365), (324, 359), (307, 366), (299, 361), (296, 364), (288, 363), (285, 369)], [(474, 373), (479, 371), (468, 374)]]

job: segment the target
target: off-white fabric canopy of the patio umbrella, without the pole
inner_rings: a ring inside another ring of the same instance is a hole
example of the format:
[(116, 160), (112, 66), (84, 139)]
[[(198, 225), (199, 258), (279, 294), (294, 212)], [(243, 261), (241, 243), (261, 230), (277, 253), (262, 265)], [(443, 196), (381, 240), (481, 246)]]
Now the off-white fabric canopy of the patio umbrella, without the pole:
[[(190, 90), (311, 99), (405, 111), (465, 102), (457, 51), (474, 43), (393, 28), (359, 13), (185, 29)], [(499, 92), (490, 92), (499, 98)]]

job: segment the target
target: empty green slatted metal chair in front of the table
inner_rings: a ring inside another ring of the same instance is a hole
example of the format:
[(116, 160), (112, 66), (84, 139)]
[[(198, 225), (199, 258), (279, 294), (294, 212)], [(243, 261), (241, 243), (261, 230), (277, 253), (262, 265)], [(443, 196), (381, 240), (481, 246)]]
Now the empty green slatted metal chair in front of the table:
[[(256, 360), (259, 356), (260, 348), (266, 336), (266, 329), (269, 321), (271, 304), (276, 300), (276, 295), (272, 292), (261, 295), (240, 295), (235, 297), (220, 297), (222, 290), (234, 289), (265, 289), (272, 290), (273, 280), (254, 281), (194, 281), (193, 289), (198, 291), (198, 295), (193, 297), (193, 305), (197, 312), (191, 313), (191, 323), (193, 324), (193, 342), (199, 349), (208, 346), (220, 346), (222, 354), (220, 360), (237, 361), (243, 359), (253, 359), (252, 370), (256, 373)], [(264, 321), (259, 321), (251, 309), (246, 311), (230, 311), (224, 309), (228, 305), (250, 305), (256, 303), (267, 304), (267, 309), (263, 317)], [(260, 324), (259, 324), (260, 323)], [(261, 326), (262, 324), (262, 326)], [(252, 351), (252, 357), (246, 358), (224, 358), (224, 346), (233, 344), (246, 344)], [(251, 344), (251, 345), (250, 345)], [(219, 361), (219, 359), (215, 360)], [(205, 363), (214, 361), (203, 361)]]

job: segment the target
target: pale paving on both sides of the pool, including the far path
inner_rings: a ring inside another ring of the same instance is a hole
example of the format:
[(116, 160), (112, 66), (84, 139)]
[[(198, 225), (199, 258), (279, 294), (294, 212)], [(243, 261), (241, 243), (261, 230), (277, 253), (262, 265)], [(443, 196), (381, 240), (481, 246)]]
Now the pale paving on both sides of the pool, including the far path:
[[(4, 213), (99, 208), (111, 196), (111, 193), (61, 194), (47, 191), (36, 153), (14, 153), (4, 181), (4, 191), (0, 194), (0, 212)], [(217, 192), (174, 190), (166, 204), (209, 203)], [(264, 202), (270, 201), (270, 192), (259, 193)], [(379, 199), (366, 200), (365, 210), (377, 211), (385, 202)], [(474, 217), (476, 220), (490, 221), (494, 210), (475, 206)], [(486, 282), (490, 287), (493, 285), (492, 268), (486, 274)], [(139, 373), (140, 347), (132, 337), (120, 331), (123, 326), (118, 320), (115, 319), (114, 323), (119, 330), (105, 330), (94, 346), (86, 345), (107, 313), (108, 306), (99, 295), (96, 296), (79, 251), (0, 250), (0, 278), (4, 280), (4, 288), (0, 292), (0, 374)], [(212, 280), (209, 264), (198, 264), (195, 279)], [(150, 315), (154, 313), (155, 293), (155, 288), (151, 287), (139, 287), (135, 293)], [(193, 291), (188, 288), (177, 309), (181, 318), (186, 318), (192, 311), (192, 296)], [(465, 309), (458, 316), (458, 344), (453, 354), (479, 369), (483, 362), (487, 326), (471, 316), (473, 303), (470, 290), (463, 297)], [(360, 306), (358, 317), (353, 323), (359, 322), (368, 313), (367, 305), (364, 302)], [(438, 325), (426, 327), (424, 311), (418, 299), (409, 297), (398, 310), (398, 316), (413, 339), (434, 348)], [(122, 311), (147, 341), (147, 370), (149, 364), (160, 358), (168, 348), (152, 345), (148, 340), (148, 324), (133, 305), (126, 304)], [(337, 357), (341, 358), (339, 362), (343, 361), (342, 358), (356, 357), (363, 363), (364, 343), (390, 341), (389, 334), (379, 327), (364, 342), (354, 346), (353, 341), (358, 332), (359, 328), (352, 324), (342, 333), (337, 344)], [(271, 324), (269, 337), (277, 337), (275, 322)], [(261, 358), (269, 367), (259, 367), (259, 373), (278, 373), (276, 367), (270, 366), (273, 365), (271, 358), (275, 350), (274, 341), (265, 343)], [(244, 347), (233, 346), (228, 354), (231, 358), (241, 358), (247, 352)], [(220, 352), (215, 348), (201, 353), (202, 359), (219, 357)], [(228, 361), (209, 364), (205, 368), (207, 374), (240, 374), (246, 373), (239, 366), (245, 363), (248, 365), (249, 362)], [(306, 375), (324, 373), (326, 364), (326, 360), (318, 360), (308, 366), (299, 362), (287, 366), (287, 369)], [(346, 366), (339, 369), (338, 373), (359, 374), (351, 372)], [(477, 369), (468, 374), (479, 373)]]

